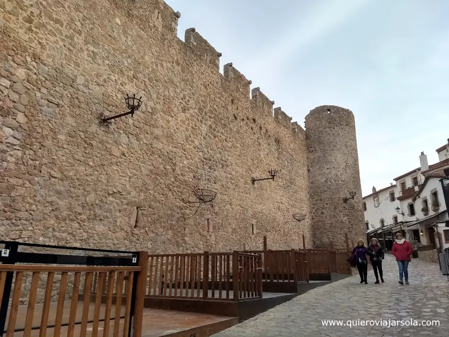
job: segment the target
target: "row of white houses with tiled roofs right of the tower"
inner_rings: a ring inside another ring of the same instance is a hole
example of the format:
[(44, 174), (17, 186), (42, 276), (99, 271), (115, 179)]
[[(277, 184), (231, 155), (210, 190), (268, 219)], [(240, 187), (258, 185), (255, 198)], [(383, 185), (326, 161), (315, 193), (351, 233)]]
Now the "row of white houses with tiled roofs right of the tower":
[[(436, 164), (429, 165), (422, 152), (420, 167), (396, 177), (396, 183), (386, 188), (373, 187), (373, 193), (363, 197), (368, 238), (377, 237), (390, 250), (394, 236), (402, 231), (414, 247), (449, 247), (449, 178), (442, 182), (449, 168), (449, 140), (437, 153)], [(446, 198), (443, 184), (447, 184)]]

